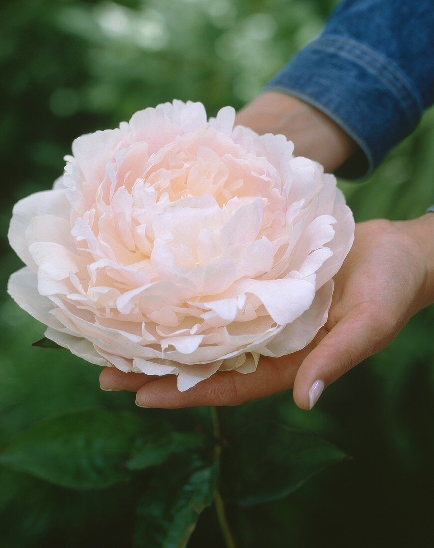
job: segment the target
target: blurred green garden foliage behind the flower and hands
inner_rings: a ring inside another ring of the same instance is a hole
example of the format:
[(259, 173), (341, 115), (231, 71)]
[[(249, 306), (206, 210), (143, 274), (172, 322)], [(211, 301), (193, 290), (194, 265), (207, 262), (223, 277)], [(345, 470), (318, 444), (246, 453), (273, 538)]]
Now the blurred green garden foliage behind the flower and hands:
[[(210, 115), (241, 107), (317, 35), (335, 3), (3, 0), (0, 444), (36, 421), (95, 405), (168, 416), (136, 410), (129, 393), (102, 392), (98, 367), (30, 346), (44, 328), (5, 292), (21, 266), (7, 241), (13, 204), (52, 186), (73, 138), (115, 127), (135, 110), (173, 98), (203, 101)], [(341, 187), (357, 221), (422, 214), (434, 203), (434, 111), (368, 181)], [(291, 424), (353, 459), (282, 501), (230, 505), (239, 546), (432, 545), (433, 325), (433, 307), (421, 311), (380, 355), (329, 387), (312, 412), (284, 396)], [(187, 427), (201, 411), (176, 413)], [(1, 470), (0, 544), (130, 546), (137, 496), (134, 483), (77, 492)], [(221, 546), (214, 528), (209, 509), (189, 546)]]

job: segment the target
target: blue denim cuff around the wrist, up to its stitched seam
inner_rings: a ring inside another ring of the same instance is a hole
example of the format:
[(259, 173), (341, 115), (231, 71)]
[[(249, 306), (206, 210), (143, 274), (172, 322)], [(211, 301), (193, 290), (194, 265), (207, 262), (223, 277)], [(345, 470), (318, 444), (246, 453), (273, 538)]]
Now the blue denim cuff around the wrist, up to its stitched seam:
[(346, 179), (372, 173), (422, 113), (419, 94), (391, 60), (337, 35), (311, 42), (265, 89), (309, 102), (356, 141), (359, 151), (336, 172)]

